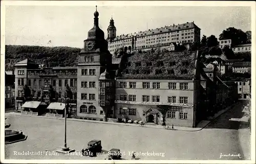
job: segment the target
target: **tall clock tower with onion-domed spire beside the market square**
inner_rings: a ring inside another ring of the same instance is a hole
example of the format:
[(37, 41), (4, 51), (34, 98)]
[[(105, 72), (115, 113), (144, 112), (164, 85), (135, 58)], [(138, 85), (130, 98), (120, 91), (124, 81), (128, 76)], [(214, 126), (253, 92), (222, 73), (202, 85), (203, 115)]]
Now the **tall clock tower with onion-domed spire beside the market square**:
[[(78, 54), (77, 65), (77, 117), (79, 119), (105, 120), (105, 110), (99, 104), (100, 74), (112, 65), (112, 54), (108, 42), (99, 28), (99, 13), (94, 12), (94, 26), (83, 41), (83, 49)], [(102, 96), (101, 96), (102, 97)]]

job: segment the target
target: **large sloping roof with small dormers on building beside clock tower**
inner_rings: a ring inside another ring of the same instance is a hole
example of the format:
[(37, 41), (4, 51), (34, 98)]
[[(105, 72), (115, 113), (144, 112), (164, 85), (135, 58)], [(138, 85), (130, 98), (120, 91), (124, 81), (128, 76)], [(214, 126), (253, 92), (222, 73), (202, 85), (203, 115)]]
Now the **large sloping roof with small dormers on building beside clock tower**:
[[(126, 54), (122, 57), (116, 78), (190, 79), (195, 76), (196, 53), (196, 51), (183, 51)], [(141, 65), (136, 65), (137, 62), (141, 62)], [(147, 66), (148, 62), (151, 62), (152, 66)], [(171, 62), (175, 62), (175, 65), (170, 65)], [(131, 66), (126, 63), (131, 63)], [(172, 69), (174, 73), (169, 74), (168, 70)]]

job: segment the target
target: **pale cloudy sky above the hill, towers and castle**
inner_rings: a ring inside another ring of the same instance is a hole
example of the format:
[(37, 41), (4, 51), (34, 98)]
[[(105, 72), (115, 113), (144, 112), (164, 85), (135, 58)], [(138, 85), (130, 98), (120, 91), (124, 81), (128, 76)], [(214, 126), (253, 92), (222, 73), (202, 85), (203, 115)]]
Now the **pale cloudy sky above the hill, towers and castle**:
[[(93, 28), (95, 6), (6, 6), (6, 45), (83, 47)], [(234, 27), (251, 31), (250, 7), (98, 6), (99, 26), (105, 34), (111, 16), (117, 35), (194, 21), (201, 38)], [(48, 41), (51, 40), (51, 43)]]

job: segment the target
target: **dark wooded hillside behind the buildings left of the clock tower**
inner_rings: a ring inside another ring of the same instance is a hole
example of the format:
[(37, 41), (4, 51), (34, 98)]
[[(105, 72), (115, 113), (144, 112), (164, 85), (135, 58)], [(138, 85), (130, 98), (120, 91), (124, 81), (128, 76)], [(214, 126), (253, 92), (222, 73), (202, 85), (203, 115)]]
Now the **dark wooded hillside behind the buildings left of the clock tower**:
[(30, 59), (38, 64), (47, 64), (49, 67), (76, 66), (77, 54), (80, 50), (80, 48), (73, 47), (6, 45), (5, 68), (13, 70), (15, 63), (25, 59)]

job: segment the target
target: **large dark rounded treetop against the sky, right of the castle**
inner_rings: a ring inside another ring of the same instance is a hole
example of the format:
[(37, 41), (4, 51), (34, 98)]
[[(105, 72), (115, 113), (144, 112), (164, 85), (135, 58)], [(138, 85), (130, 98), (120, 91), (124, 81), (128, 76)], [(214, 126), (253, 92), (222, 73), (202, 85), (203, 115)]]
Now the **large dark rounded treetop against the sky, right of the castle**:
[(231, 46), (235, 46), (245, 44), (247, 42), (247, 35), (240, 29), (228, 28), (220, 34), (219, 40), (222, 39), (231, 39)]

